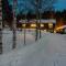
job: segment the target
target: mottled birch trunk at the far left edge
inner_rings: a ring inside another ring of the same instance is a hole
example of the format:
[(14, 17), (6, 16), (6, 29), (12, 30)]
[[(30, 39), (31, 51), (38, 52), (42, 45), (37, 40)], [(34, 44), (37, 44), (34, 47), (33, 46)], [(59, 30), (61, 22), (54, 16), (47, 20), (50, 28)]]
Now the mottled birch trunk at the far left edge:
[(0, 0), (0, 54), (2, 54), (2, 2)]

